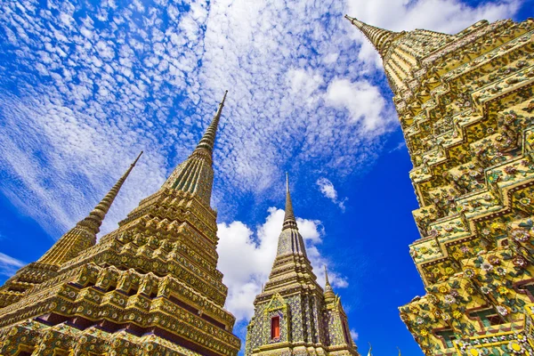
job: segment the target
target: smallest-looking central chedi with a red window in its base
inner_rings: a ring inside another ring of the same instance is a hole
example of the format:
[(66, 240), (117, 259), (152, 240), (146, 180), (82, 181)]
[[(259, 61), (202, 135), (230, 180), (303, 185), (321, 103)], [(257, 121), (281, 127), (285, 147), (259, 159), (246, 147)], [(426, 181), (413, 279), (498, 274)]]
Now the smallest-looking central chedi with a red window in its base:
[(287, 184), (276, 258), (247, 328), (247, 356), (359, 355), (339, 296), (328, 277), (325, 291), (316, 279)]

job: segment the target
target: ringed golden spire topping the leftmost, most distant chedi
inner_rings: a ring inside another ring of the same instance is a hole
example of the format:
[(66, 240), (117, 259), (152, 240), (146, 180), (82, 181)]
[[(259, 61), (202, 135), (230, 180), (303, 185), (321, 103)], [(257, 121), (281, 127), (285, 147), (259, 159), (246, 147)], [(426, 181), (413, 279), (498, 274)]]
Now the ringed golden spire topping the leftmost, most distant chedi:
[(96, 234), (100, 231), (101, 224), (109, 211), (109, 207), (117, 197), (118, 190), (120, 190), (126, 178), (132, 172), (132, 169), (134, 169), (141, 155), (142, 151), (135, 158), (134, 163), (130, 165), (125, 174), (109, 190), (108, 194), (94, 207), (91, 213), (84, 220), (77, 223), (74, 228), (67, 231), (65, 235), (61, 236), (53, 247), (39, 258), (38, 262), (61, 265), (61, 263), (69, 261), (81, 251), (96, 243)]

